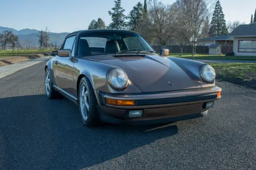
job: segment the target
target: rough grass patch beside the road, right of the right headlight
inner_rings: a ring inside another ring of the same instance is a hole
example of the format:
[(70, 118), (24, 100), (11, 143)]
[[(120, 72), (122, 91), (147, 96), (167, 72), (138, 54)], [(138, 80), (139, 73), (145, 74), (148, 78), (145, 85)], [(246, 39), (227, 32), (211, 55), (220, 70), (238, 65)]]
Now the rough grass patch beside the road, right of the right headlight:
[(216, 78), (256, 89), (256, 63), (208, 63)]

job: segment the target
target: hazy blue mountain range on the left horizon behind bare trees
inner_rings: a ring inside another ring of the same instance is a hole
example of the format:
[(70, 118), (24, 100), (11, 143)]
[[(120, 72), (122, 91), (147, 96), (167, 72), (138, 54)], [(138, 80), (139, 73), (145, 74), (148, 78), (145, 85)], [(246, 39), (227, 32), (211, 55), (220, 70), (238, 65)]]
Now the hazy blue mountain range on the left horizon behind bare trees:
[[(24, 47), (25, 45), (31, 45), (31, 46), (39, 46), (38, 40), (39, 38), (37, 37), (39, 30), (34, 30), (34, 29), (22, 29), (22, 30), (15, 30), (13, 28), (8, 28), (8, 27), (1, 27), (0, 26), (0, 33), (3, 31), (12, 31), (13, 34), (17, 35), (19, 38), (19, 42)], [(53, 33), (50, 32), (50, 42), (55, 45), (55, 43), (58, 45), (62, 44), (66, 35), (68, 35), (68, 32), (63, 32), (63, 33)]]

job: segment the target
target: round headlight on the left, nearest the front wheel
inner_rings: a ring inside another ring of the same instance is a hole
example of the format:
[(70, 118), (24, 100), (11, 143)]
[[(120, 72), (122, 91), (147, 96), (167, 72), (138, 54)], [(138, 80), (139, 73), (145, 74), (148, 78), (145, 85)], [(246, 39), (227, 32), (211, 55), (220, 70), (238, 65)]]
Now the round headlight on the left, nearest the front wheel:
[(110, 69), (107, 74), (108, 84), (116, 90), (122, 90), (127, 86), (128, 77), (122, 69)]

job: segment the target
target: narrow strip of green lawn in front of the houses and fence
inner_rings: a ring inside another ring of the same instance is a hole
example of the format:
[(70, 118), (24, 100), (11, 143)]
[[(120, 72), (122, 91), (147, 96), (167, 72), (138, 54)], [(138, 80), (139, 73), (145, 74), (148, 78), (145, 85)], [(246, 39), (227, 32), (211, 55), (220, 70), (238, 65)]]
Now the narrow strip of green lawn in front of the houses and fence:
[[(170, 57), (180, 57), (185, 59), (192, 59), (192, 54), (184, 53), (180, 54), (169, 54)], [(208, 55), (208, 54), (195, 54), (194, 59), (236, 59), (236, 60), (256, 60), (256, 56), (226, 56), (226, 55)]]

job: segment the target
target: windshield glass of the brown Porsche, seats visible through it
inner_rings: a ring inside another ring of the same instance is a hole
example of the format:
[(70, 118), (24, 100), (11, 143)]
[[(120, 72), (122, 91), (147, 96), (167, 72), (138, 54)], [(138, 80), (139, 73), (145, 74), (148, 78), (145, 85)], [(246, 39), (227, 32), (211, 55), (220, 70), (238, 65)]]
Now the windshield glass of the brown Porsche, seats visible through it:
[(152, 47), (136, 33), (131, 32), (90, 32), (78, 37), (78, 56), (134, 53), (138, 51), (154, 51)]

